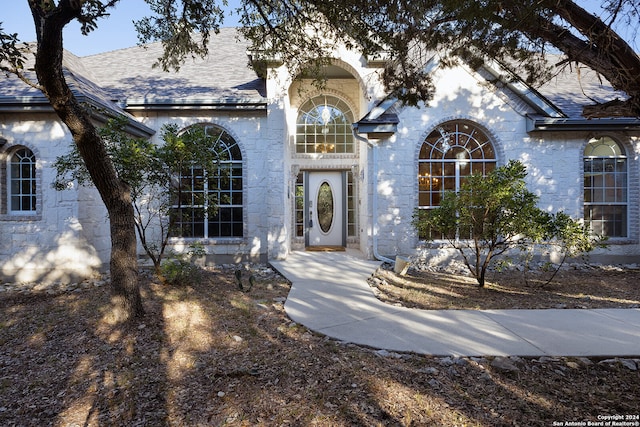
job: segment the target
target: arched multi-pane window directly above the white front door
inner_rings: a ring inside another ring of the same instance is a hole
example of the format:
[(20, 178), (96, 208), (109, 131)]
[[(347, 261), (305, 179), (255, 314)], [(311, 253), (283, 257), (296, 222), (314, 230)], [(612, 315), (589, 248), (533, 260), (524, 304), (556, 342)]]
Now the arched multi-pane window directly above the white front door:
[(349, 106), (335, 96), (318, 96), (300, 107), (296, 153), (354, 153)]

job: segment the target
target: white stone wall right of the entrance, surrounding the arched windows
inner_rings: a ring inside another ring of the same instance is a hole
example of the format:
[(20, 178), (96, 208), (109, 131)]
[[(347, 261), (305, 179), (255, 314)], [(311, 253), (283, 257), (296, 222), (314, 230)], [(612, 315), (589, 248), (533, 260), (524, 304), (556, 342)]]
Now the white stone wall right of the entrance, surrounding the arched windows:
[[(377, 223), (378, 249), (382, 255), (434, 256), (438, 244), (419, 242), (411, 226), (418, 205), (418, 155), (426, 136), (440, 123), (462, 119), (484, 128), (494, 142), (498, 165), (511, 159), (527, 166), (528, 187), (540, 197), (539, 206), (582, 218), (582, 155), (589, 139), (602, 134), (572, 133), (530, 135), (526, 132), (526, 108), (514, 105), (497, 91), (478, 84), (477, 75), (463, 67), (438, 71), (433, 101), (426, 108), (400, 111), (398, 132), (380, 144)], [(611, 135), (611, 134), (610, 134)], [(610, 239), (608, 248), (590, 255), (594, 262), (639, 262), (640, 224), (637, 139), (611, 135), (623, 143), (629, 164), (629, 236)], [(431, 249), (429, 249), (431, 248)], [(446, 252), (446, 251), (444, 251)], [(447, 255), (451, 256), (451, 254)]]

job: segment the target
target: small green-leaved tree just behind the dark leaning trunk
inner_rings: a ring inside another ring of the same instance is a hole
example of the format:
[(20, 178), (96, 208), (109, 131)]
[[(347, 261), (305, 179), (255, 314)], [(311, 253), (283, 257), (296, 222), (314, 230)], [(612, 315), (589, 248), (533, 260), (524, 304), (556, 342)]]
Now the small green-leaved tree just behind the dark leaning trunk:
[[(127, 120), (112, 119), (99, 129), (100, 136), (113, 162), (118, 178), (131, 189), (135, 211), (136, 230), (140, 243), (160, 274), (161, 261), (169, 236), (175, 231), (174, 203), (180, 203), (189, 190), (188, 183), (179, 177), (189, 176), (191, 168), (200, 171), (216, 171), (219, 162), (227, 160), (227, 153), (220, 146), (219, 131), (203, 126), (192, 126), (180, 131), (175, 124), (162, 128), (164, 144), (134, 138), (125, 132)], [(73, 181), (79, 185), (91, 185), (91, 177), (75, 145), (69, 153), (56, 159), (57, 170), (54, 188), (64, 190)], [(186, 172), (186, 173), (185, 173)], [(205, 173), (201, 174), (203, 177)], [(223, 175), (221, 172), (219, 175)], [(190, 193), (192, 195), (199, 194)], [(217, 210), (215, 192), (199, 194), (202, 200), (196, 204), (207, 206), (210, 215)], [(195, 195), (194, 195), (195, 197)], [(206, 198), (206, 201), (204, 200)], [(181, 212), (186, 219), (188, 210)]]

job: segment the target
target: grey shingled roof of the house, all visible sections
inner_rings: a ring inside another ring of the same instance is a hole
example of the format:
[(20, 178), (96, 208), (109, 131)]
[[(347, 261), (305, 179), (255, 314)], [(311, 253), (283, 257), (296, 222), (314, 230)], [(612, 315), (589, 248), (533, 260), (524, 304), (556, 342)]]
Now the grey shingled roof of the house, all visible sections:
[[(133, 110), (165, 109), (258, 109), (266, 108), (266, 85), (248, 63), (249, 43), (236, 28), (223, 28), (212, 34), (209, 55), (188, 58), (178, 72), (153, 67), (162, 55), (162, 44), (151, 43), (97, 55), (76, 57), (65, 51), (65, 72), (76, 95), (106, 111), (135, 119)], [(552, 59), (552, 63), (553, 63)], [(558, 59), (559, 61), (559, 59)], [(557, 62), (557, 61), (556, 61)], [(520, 86), (524, 83), (520, 81)], [(513, 89), (520, 97), (528, 117), (529, 130), (570, 128), (639, 129), (637, 118), (582, 118), (582, 108), (595, 102), (625, 98), (612, 90), (608, 82), (592, 70), (566, 65), (557, 75), (538, 88)], [(0, 109), (33, 110), (45, 108), (47, 101), (37, 90), (15, 77), (2, 82)], [(367, 116), (368, 117), (368, 116)], [(394, 111), (361, 121), (384, 133), (397, 124)], [(380, 121), (384, 123), (380, 123)], [(384, 126), (383, 126), (384, 125)], [(140, 125), (143, 126), (143, 125)], [(151, 131), (151, 130), (149, 130)]]

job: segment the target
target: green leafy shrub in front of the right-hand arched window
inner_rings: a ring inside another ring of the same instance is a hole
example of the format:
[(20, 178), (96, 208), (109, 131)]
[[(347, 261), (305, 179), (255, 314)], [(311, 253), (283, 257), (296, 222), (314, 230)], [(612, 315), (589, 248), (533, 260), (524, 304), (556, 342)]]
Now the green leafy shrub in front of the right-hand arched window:
[(428, 240), (445, 238), (484, 286), (493, 258), (507, 250), (554, 241), (565, 256), (595, 249), (597, 239), (563, 212), (537, 207), (538, 197), (526, 187), (526, 168), (511, 160), (487, 176), (472, 175), (458, 193), (444, 194), (440, 206), (417, 209), (413, 225)]

